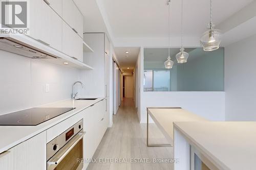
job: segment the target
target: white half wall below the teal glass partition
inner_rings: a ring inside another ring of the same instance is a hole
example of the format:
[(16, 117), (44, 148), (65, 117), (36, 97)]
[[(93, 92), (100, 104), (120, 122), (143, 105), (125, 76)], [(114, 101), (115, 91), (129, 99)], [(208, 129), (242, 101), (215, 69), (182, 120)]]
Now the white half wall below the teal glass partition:
[(146, 123), (146, 107), (181, 107), (209, 120), (225, 120), (225, 92), (154, 91), (142, 95), (141, 123)]

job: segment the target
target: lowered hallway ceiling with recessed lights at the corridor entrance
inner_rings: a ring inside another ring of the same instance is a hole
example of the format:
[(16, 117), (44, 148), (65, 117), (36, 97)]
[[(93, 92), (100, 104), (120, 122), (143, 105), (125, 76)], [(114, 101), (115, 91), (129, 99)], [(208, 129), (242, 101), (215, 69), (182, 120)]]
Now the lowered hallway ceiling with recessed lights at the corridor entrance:
[[(126, 70), (127, 67), (130, 69), (135, 67), (140, 52), (140, 47), (115, 47), (114, 50), (118, 64), (123, 70)], [(126, 51), (129, 52), (129, 54), (126, 54)]]

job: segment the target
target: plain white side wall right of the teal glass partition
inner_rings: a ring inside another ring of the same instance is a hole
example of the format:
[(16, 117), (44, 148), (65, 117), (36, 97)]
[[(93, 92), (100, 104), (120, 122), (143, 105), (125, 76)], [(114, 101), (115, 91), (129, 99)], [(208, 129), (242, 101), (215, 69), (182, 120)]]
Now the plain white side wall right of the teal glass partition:
[(256, 35), (225, 47), (226, 120), (256, 120)]

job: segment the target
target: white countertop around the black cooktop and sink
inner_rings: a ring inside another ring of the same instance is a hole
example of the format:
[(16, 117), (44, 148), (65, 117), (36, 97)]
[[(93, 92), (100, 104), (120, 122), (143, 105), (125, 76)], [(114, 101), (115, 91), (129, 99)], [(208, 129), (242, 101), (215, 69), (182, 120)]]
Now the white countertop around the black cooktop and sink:
[(97, 100), (65, 100), (60, 102), (55, 102), (51, 104), (42, 105), (39, 107), (73, 107), (76, 108), (67, 113), (61, 114), (57, 117), (54, 117), (50, 120), (47, 120), (44, 123), (41, 123), (37, 126), (0, 126), (0, 153), (9, 150), (15, 145), (51, 128), (52, 126), (62, 122), (63, 120), (73, 116), (74, 114), (90, 107), (91, 105), (101, 101), (103, 97), (98, 98)]

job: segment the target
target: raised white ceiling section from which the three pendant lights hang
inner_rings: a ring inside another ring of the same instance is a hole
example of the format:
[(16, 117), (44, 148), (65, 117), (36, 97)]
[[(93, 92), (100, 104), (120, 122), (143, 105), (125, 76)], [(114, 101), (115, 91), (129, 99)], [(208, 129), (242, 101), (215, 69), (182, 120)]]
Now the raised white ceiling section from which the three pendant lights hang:
[[(241, 10), (253, 0), (213, 0), (216, 25)], [(209, 22), (207, 0), (183, 0), (184, 35), (200, 36)], [(102, 1), (114, 37), (166, 37), (168, 33), (167, 0)], [(171, 34), (180, 36), (181, 1), (172, 0)]]

